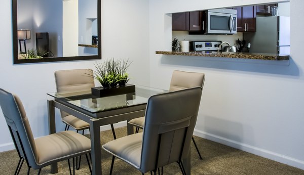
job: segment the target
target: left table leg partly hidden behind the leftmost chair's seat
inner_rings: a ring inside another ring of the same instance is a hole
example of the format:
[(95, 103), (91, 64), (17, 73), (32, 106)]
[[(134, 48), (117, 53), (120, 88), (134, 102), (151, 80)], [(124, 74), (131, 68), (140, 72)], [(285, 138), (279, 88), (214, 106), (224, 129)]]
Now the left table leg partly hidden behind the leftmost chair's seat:
[[(48, 100), (48, 119), (49, 119), (49, 134), (56, 133), (56, 122), (55, 122), (55, 107), (54, 107), (54, 101)], [(58, 172), (58, 165), (57, 163), (51, 164), (51, 173), (57, 173)]]

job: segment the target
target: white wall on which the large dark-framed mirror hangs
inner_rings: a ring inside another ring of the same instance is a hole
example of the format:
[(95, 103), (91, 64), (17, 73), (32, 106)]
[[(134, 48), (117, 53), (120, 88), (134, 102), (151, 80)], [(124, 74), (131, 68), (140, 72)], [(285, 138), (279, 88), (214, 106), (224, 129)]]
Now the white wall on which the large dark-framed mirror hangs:
[[(147, 0), (102, 1), (102, 58), (129, 58), (133, 61), (128, 71), (132, 78), (130, 83), (149, 85), (148, 10)], [(11, 1), (2, 2), (0, 11), (4, 33), (0, 42), (0, 88), (21, 98), (34, 137), (47, 135), (47, 99), (51, 98), (46, 93), (56, 91), (54, 72), (63, 69), (94, 69), (96, 60), (13, 65)], [(99, 82), (95, 84), (100, 85)], [(57, 130), (64, 130), (58, 111), (56, 120)], [(0, 128), (0, 151), (14, 149), (2, 112)]]

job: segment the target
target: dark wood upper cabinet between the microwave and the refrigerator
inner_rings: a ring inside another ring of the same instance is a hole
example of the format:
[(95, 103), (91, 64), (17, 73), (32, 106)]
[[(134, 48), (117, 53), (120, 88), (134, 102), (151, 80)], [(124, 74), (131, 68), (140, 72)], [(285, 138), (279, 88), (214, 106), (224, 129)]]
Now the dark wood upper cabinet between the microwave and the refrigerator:
[(233, 8), (237, 10), (237, 31), (255, 32), (255, 6), (244, 6)]

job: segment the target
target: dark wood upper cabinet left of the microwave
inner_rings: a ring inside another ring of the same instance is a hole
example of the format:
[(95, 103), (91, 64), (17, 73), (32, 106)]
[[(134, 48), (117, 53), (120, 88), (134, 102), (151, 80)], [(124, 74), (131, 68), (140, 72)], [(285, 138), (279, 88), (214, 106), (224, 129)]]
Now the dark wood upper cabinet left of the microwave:
[(200, 31), (202, 11), (172, 14), (172, 30)]

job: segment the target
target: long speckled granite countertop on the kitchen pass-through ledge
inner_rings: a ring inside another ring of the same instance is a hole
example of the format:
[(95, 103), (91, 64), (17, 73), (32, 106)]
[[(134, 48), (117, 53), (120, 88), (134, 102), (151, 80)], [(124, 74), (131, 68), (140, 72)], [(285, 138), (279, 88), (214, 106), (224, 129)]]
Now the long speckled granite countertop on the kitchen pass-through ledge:
[(280, 54), (263, 54), (263, 53), (234, 53), (234, 52), (205, 52), (205, 51), (189, 51), (189, 52), (172, 52), (172, 51), (156, 51), (156, 54), (162, 55), (179, 55), (179, 56), (199, 56), (199, 57), (223, 57), (223, 58), (243, 58), (255, 60), (289, 60), (289, 55)]

